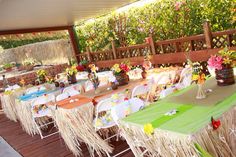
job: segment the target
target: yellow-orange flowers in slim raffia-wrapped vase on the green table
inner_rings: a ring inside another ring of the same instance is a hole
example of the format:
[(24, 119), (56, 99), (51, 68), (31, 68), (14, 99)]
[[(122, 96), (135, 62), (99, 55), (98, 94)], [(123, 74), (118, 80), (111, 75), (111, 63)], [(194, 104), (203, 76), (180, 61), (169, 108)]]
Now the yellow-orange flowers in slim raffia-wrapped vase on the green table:
[(203, 90), (203, 84), (205, 83), (206, 76), (202, 72), (200, 64), (193, 64), (193, 75), (192, 80), (198, 85), (198, 91), (196, 99), (204, 99), (206, 98), (206, 94)]

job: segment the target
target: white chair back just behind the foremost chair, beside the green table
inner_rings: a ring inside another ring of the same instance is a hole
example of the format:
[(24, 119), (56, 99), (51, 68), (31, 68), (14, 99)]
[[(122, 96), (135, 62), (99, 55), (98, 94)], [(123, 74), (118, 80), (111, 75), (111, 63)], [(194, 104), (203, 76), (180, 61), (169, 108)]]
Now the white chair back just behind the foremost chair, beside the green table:
[(150, 95), (150, 89), (148, 85), (138, 85), (134, 87), (131, 98), (140, 97), (143, 95), (146, 95), (146, 98), (144, 99), (145, 99), (145, 102), (148, 102), (149, 95)]

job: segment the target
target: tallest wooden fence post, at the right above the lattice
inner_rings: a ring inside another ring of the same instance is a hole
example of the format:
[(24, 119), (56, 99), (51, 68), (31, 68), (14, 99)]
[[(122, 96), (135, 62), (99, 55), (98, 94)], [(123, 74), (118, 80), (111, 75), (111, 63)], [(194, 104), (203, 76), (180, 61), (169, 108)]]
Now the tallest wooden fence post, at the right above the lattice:
[(209, 21), (204, 22), (203, 30), (204, 30), (205, 40), (206, 40), (206, 46), (208, 49), (212, 49), (213, 48), (212, 33), (211, 33), (211, 27), (210, 27)]

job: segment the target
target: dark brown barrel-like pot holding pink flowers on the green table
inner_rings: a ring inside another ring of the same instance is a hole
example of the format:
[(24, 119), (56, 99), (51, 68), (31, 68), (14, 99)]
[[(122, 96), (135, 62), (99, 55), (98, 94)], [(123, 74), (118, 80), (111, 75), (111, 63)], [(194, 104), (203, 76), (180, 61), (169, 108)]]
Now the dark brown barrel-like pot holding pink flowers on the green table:
[(235, 83), (233, 68), (224, 67), (221, 70), (216, 70), (215, 73), (218, 86), (228, 86)]

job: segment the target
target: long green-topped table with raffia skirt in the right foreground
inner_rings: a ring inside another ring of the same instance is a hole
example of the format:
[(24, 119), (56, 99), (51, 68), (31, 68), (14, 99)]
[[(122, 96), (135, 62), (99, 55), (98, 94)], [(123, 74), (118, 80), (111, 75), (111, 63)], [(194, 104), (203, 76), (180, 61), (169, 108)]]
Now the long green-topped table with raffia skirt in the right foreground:
[[(197, 143), (214, 157), (235, 157), (236, 84), (219, 87), (213, 78), (209, 79), (205, 89), (212, 89), (212, 92), (202, 100), (195, 99), (196, 88), (192, 85), (173, 93), (119, 122), (135, 156), (143, 152), (140, 143), (151, 156), (199, 156), (195, 148)], [(166, 115), (173, 110), (177, 113)], [(211, 117), (221, 121), (216, 130)], [(147, 124), (151, 124), (153, 134), (145, 133)]]

